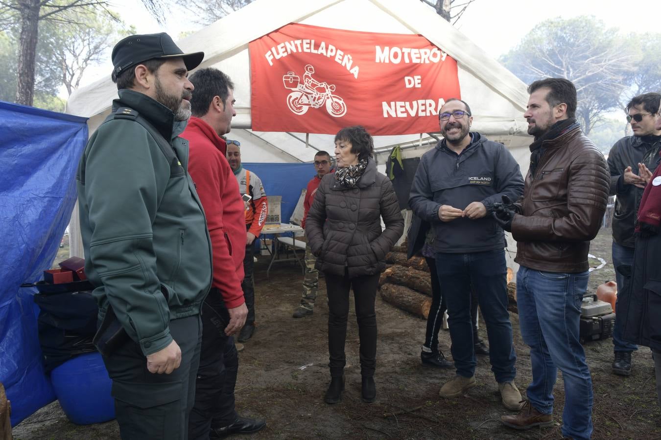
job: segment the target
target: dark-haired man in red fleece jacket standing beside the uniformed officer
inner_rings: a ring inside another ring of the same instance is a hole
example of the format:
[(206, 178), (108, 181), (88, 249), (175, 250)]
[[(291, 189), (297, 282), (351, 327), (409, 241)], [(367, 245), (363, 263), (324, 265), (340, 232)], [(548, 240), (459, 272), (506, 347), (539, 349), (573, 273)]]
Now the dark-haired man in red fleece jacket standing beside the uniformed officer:
[(188, 172), (204, 207), (214, 253), (214, 281), (202, 307), (202, 354), (188, 424), (188, 438), (196, 440), (251, 433), (266, 422), (243, 418), (234, 408), (239, 359), (232, 335), (241, 330), (248, 313), (241, 290), (244, 204), (221, 138), (236, 115), (234, 84), (211, 68), (196, 71), (190, 82), (196, 88), (193, 116), (181, 136), (190, 142)]

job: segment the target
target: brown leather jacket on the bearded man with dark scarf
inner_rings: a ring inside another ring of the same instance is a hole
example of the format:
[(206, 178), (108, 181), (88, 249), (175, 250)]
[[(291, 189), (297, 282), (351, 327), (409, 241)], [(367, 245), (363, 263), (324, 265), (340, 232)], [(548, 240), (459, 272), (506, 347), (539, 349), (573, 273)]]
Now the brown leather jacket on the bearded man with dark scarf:
[(525, 176), (522, 214), (512, 221), (514, 261), (544, 272), (584, 272), (606, 209), (608, 168), (580, 127), (544, 141), (543, 148), (535, 175)]

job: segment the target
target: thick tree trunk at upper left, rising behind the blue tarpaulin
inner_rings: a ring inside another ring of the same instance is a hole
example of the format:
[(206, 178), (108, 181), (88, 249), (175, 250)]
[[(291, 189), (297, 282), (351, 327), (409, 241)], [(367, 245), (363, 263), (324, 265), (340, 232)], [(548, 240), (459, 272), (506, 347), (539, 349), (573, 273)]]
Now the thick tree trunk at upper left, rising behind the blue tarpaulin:
[(41, 5), (38, 0), (19, 0), (19, 6), (20, 44), (16, 102), (24, 106), (32, 106), (34, 100), (34, 64)]

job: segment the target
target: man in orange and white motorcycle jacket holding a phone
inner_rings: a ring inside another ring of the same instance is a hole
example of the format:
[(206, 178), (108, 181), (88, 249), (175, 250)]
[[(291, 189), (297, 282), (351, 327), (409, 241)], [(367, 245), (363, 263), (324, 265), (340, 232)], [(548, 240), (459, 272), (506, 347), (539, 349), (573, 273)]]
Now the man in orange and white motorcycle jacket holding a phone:
[(239, 342), (246, 342), (253, 337), (254, 325), (254, 287), (253, 287), (253, 266), (254, 266), (254, 239), (259, 237), (266, 216), (268, 215), (268, 201), (264, 192), (264, 185), (259, 177), (241, 166), (241, 143), (239, 141), (227, 140), (227, 162), (234, 172), (234, 176), (239, 183), (239, 193), (246, 202), (245, 208), (245, 227), (247, 230), (245, 242), (245, 258), (243, 259), (243, 296), (248, 307), (248, 316), (246, 323), (239, 332)]

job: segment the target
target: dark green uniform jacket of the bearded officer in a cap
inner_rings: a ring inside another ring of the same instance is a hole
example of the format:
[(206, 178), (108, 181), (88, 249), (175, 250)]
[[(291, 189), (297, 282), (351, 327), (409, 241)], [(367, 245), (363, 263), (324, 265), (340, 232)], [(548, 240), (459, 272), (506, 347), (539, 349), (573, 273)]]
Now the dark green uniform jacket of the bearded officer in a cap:
[[(85, 272), (99, 319), (112, 305), (147, 356), (172, 342), (171, 319), (200, 313), (212, 247), (186, 171), (188, 141), (178, 137), (186, 123), (175, 124), (172, 111), (145, 94), (122, 89), (119, 96), (87, 142), (76, 176)], [(166, 140), (165, 152), (138, 115)]]

